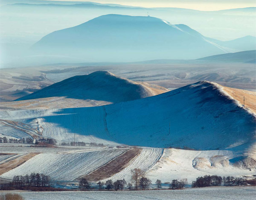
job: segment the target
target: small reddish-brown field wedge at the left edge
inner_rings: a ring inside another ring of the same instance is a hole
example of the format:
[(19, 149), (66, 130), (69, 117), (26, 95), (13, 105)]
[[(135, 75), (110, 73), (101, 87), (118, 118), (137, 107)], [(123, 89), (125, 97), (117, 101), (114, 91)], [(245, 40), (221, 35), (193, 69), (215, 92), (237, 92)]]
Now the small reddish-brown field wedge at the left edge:
[(0, 175), (10, 171), (40, 153), (29, 153), (0, 165)]

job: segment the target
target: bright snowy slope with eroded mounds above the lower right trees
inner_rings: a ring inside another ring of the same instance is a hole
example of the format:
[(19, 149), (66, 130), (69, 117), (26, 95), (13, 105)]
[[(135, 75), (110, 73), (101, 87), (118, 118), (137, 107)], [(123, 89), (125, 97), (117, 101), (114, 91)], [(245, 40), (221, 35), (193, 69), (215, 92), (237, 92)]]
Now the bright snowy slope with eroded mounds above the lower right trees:
[(165, 149), (164, 154), (147, 172), (147, 176), (155, 182), (157, 179), (162, 182), (173, 179), (187, 178), (189, 183), (196, 180), (199, 176), (218, 175), (251, 176), (256, 173), (256, 169), (234, 167), (232, 159), (237, 157), (238, 153), (233, 151), (191, 151), (181, 149)]

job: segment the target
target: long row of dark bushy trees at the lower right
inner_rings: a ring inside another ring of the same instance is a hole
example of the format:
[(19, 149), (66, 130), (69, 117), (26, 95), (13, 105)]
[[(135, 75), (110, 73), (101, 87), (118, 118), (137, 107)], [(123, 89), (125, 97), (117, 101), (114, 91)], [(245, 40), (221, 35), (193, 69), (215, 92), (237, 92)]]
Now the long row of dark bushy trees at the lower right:
[(209, 186), (221, 186), (223, 183), (224, 186), (246, 186), (247, 180), (242, 178), (234, 177), (220, 177), (220, 176), (210, 176), (205, 175), (204, 177), (198, 177), (196, 181), (192, 182), (193, 188), (209, 187)]

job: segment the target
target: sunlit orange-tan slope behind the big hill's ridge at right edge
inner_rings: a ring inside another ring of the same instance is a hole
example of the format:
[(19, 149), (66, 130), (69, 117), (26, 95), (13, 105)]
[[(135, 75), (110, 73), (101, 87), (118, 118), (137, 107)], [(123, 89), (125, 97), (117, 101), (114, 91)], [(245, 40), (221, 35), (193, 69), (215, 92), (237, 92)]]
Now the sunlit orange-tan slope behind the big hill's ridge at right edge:
[[(250, 108), (256, 113), (256, 93), (248, 90), (240, 90), (231, 87), (223, 87), (223, 90), (232, 96), (234, 99), (239, 101), (241, 104), (245, 104), (246, 108)], [(244, 102), (245, 99), (245, 102)]]

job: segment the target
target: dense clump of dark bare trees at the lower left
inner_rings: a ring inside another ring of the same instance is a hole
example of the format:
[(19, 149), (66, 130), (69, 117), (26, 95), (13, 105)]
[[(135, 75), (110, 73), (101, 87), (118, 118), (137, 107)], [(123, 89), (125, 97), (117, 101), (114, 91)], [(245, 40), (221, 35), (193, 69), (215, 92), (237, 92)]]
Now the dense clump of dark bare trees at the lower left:
[(14, 176), (12, 185), (14, 187), (34, 186), (34, 187), (50, 187), (50, 177), (44, 174), (31, 173), (25, 176)]

